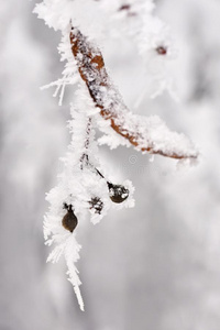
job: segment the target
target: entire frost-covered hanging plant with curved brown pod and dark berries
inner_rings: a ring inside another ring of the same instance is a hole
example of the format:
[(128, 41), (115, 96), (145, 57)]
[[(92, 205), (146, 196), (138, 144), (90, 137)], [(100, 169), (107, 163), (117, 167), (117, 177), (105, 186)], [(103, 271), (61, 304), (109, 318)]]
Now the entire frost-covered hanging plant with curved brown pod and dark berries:
[[(89, 8), (98, 14), (95, 28), (94, 22), (84, 14)], [(116, 185), (101, 174), (98, 143), (107, 143), (110, 148), (132, 145), (142, 153), (184, 161), (195, 161), (198, 157), (193, 143), (184, 134), (169, 131), (158, 117), (138, 116), (127, 108), (96, 45), (100, 40), (97, 31), (100, 30), (110, 30), (121, 37), (120, 30), (117, 33), (110, 28), (114, 25), (114, 21), (119, 21), (124, 28), (130, 24), (130, 29), (124, 30), (128, 35), (132, 31), (139, 45), (138, 56), (147, 57), (150, 53), (154, 53), (155, 58), (167, 57), (172, 50), (164, 33), (167, 29), (154, 16), (153, 9), (152, 0), (135, 0), (129, 4), (123, 4), (120, 0), (113, 4), (103, 0), (98, 3), (87, 0), (84, 4), (79, 0), (44, 0), (34, 10), (50, 28), (61, 30), (63, 35), (58, 47), (62, 61), (66, 62), (63, 77), (46, 87), (56, 86), (55, 96), (59, 94), (62, 105), (65, 87), (78, 84), (70, 111), (72, 143), (66, 158), (63, 160), (65, 165), (64, 172), (59, 174), (58, 186), (47, 195), (51, 207), (44, 221), (44, 238), (47, 245), (57, 244), (47, 261), (55, 263), (61, 255), (65, 256), (68, 279), (74, 286), (81, 310), (81, 282), (75, 266), (81, 246), (76, 241), (75, 229), (86, 216), (86, 210), (90, 213), (91, 222), (96, 224), (114, 204), (117, 207), (134, 205), (134, 189), (130, 182)], [(102, 132), (98, 142), (94, 128)]]

